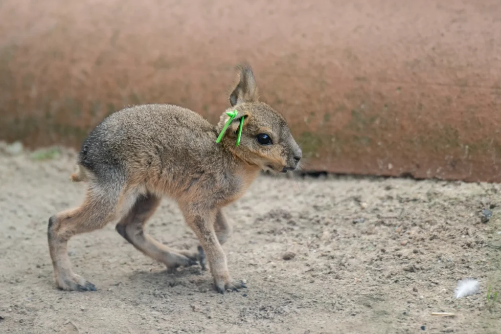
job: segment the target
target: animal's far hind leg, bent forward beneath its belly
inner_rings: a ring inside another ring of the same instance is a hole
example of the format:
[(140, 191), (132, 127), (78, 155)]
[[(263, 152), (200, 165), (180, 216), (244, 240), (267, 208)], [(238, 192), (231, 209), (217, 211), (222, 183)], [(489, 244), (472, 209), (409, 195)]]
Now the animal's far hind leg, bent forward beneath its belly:
[(164, 263), (170, 270), (196, 264), (196, 254), (167, 247), (144, 232), (144, 224), (153, 215), (158, 204), (158, 196), (151, 193), (140, 196), (129, 214), (118, 222), (116, 230), (138, 250)]

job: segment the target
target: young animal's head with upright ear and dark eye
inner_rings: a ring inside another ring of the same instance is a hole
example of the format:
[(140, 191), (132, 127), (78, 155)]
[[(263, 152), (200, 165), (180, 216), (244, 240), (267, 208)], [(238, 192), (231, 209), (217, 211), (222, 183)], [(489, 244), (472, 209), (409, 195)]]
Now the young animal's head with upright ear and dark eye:
[[(248, 64), (237, 66), (238, 84), (231, 92), (231, 108), (238, 113), (229, 124), (222, 143), (243, 161), (263, 170), (287, 172), (296, 170), (302, 152), (294, 140), (284, 117), (259, 101), (258, 89)], [(243, 117), (240, 143), (236, 147), (238, 129)], [(220, 133), (229, 116), (223, 113), (217, 124)]]

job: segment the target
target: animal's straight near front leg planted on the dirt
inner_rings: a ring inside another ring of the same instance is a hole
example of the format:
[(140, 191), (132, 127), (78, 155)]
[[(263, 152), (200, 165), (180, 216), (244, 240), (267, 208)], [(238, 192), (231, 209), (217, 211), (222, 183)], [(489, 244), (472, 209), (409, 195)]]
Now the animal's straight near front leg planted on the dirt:
[(242, 281), (233, 280), (229, 275), (226, 255), (224, 255), (221, 244), (217, 240), (214, 229), (217, 210), (211, 210), (204, 213), (194, 213), (189, 210), (183, 210), (183, 213), (186, 223), (193, 232), (195, 232), (207, 256), (216, 291), (224, 293), (224, 291), (228, 289), (238, 291), (238, 288), (246, 287)]

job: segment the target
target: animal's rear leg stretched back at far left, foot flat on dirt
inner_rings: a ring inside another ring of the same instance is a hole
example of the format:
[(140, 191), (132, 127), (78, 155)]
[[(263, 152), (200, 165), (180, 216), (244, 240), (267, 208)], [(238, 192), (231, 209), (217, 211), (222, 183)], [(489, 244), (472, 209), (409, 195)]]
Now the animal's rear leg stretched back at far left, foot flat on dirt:
[(94, 284), (73, 272), (68, 257), (68, 240), (76, 234), (104, 227), (113, 220), (117, 203), (118, 194), (113, 196), (113, 193), (90, 187), (80, 207), (60, 212), (49, 219), (49, 252), (56, 283), (60, 289), (96, 290)]

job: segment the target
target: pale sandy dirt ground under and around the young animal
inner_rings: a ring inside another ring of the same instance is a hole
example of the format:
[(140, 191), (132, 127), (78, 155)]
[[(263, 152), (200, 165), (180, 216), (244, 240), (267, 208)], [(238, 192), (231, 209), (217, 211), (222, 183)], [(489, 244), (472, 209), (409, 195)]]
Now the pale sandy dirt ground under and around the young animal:
[[(486, 297), (489, 286), (501, 294), (500, 185), (262, 176), (226, 210), (234, 234), (223, 248), (247, 289), (217, 294), (198, 266), (169, 274), (109, 225), (69, 243), (75, 271), (98, 290), (64, 292), (46, 231), (82, 199), (85, 184), (69, 181), (74, 153), (7, 151), (1, 144), (2, 333), (501, 333), (501, 296)], [(148, 231), (196, 246), (168, 199)], [(480, 293), (456, 299), (467, 277)]]

